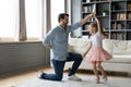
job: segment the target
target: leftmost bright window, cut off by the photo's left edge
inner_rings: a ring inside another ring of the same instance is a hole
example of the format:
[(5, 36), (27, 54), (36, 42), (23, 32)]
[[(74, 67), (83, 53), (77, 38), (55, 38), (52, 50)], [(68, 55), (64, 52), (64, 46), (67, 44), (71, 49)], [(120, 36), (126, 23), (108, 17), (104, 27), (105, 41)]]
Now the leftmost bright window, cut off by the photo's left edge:
[(14, 39), (19, 29), (19, 0), (0, 0), (0, 40)]

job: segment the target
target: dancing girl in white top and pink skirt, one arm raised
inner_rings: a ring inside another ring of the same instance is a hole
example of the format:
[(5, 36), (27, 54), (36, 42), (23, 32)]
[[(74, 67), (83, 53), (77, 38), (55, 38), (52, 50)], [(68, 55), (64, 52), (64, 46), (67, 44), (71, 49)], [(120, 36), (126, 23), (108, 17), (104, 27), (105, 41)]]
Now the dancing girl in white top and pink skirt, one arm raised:
[[(94, 18), (96, 23), (92, 23), (90, 25), (90, 34), (91, 36), (91, 42), (90, 48), (85, 53), (83, 53), (83, 58), (85, 61), (88, 61), (93, 64), (93, 71), (96, 75), (96, 83), (99, 83), (99, 75), (98, 70), (102, 72), (103, 79), (107, 80), (107, 75), (105, 73), (105, 70), (102, 66), (102, 62), (111, 59), (111, 54), (109, 54), (106, 50), (103, 48), (103, 38), (108, 37), (106, 33), (103, 32), (103, 28), (100, 27), (98, 18), (94, 15)], [(90, 51), (90, 53), (87, 53)]]

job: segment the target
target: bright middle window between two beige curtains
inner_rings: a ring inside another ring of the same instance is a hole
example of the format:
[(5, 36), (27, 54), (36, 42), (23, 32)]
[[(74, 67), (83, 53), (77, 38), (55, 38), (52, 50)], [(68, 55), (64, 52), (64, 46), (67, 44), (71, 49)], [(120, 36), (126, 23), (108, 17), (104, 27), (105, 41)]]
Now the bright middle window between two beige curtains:
[(41, 38), (43, 0), (25, 0), (27, 38)]

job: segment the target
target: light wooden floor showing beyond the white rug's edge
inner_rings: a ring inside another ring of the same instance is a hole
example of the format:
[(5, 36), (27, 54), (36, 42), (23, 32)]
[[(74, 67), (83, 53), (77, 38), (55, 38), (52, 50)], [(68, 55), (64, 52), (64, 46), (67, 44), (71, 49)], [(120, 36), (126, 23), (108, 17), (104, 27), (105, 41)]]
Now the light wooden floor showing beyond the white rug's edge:
[[(39, 71), (44, 71), (46, 73), (53, 72), (53, 70), (51, 67), (46, 67), (46, 69), (38, 67), (35, 70), (28, 70), (26, 72), (21, 72), (21, 73), (16, 73), (16, 74), (2, 76), (2, 77), (0, 77), (0, 87), (13, 87), (19, 83), (26, 82), (26, 80), (32, 79), (32, 78), (36, 78)], [(64, 72), (64, 74), (67, 74), (67, 72)], [(78, 74), (85, 75), (87, 73), (80, 73), (79, 72)]]

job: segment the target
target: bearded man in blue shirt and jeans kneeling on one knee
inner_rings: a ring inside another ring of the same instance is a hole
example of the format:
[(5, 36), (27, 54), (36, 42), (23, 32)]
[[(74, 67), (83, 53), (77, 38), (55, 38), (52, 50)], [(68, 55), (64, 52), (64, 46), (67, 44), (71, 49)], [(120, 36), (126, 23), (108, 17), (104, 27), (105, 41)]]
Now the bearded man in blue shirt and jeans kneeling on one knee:
[(78, 22), (72, 25), (68, 25), (69, 23), (69, 14), (61, 13), (58, 16), (59, 26), (51, 29), (43, 44), (51, 51), (51, 62), (53, 65), (55, 74), (46, 74), (40, 73), (39, 78), (41, 79), (50, 79), (50, 80), (61, 80), (63, 77), (63, 69), (67, 61), (74, 61), (72, 69), (69, 71), (69, 79), (70, 80), (81, 80), (78, 76), (75, 76), (75, 72), (82, 62), (82, 55), (79, 53), (68, 53), (68, 38), (69, 33), (75, 30), (83, 24), (85, 24), (93, 14), (87, 15), (81, 22)]

